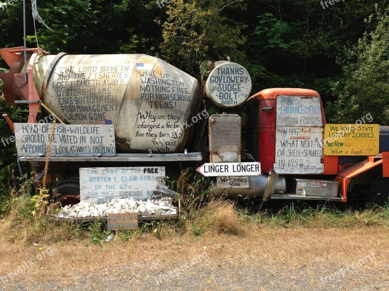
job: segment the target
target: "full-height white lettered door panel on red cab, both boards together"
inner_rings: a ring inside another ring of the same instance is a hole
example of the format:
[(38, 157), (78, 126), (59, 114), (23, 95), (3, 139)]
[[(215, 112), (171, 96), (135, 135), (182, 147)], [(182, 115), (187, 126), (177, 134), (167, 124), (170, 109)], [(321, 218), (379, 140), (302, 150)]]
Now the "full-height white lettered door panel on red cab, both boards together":
[(320, 97), (278, 96), (274, 169), (280, 174), (324, 172)]

